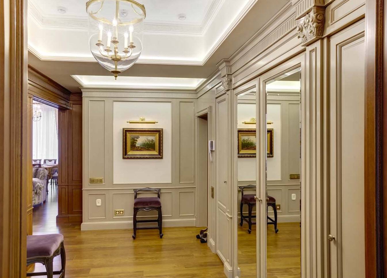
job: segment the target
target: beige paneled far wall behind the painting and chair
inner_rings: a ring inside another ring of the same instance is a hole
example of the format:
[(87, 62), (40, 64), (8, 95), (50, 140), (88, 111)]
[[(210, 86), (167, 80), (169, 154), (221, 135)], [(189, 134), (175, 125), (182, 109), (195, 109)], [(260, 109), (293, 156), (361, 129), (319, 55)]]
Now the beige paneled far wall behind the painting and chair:
[[(195, 226), (197, 202), (206, 201), (195, 197), (195, 99), (111, 95), (83, 97), (82, 230), (132, 228), (133, 189), (143, 187), (161, 188), (163, 226)], [(126, 123), (141, 116), (159, 123)], [(163, 128), (163, 159), (122, 159), (122, 128)], [(104, 183), (92, 185), (89, 178)], [(115, 216), (115, 209), (124, 214)]]

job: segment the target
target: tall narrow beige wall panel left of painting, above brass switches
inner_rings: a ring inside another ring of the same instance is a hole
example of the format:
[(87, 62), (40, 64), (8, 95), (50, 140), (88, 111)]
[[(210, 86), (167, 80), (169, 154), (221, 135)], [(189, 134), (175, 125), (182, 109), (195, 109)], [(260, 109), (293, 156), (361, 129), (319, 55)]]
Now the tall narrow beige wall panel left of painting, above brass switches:
[[(105, 101), (88, 102), (88, 178), (105, 178)], [(87, 181), (87, 184), (89, 181)]]

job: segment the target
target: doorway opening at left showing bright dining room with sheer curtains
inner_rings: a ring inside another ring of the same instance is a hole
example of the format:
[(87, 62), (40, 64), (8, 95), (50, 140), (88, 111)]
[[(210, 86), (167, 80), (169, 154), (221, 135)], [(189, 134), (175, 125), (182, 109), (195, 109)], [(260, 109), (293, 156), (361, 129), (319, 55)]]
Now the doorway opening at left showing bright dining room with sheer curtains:
[(33, 97), (32, 102), (32, 232), (58, 232), (58, 108)]

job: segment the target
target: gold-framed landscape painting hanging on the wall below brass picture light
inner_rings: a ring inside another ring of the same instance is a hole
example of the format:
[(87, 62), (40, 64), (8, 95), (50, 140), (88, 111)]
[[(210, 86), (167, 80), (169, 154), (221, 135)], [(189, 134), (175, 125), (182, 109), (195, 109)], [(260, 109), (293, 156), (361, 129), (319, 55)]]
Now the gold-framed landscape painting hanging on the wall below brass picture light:
[(162, 128), (123, 128), (123, 159), (162, 159)]

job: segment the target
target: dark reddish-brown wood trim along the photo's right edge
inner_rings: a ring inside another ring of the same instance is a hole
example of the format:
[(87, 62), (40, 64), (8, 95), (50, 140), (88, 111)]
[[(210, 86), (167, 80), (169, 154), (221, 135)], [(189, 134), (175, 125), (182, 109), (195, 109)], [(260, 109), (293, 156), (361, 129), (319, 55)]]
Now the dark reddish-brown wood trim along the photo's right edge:
[(366, 2), (365, 77), (365, 268), (382, 278), (383, 242), (383, 48), (384, 0)]

